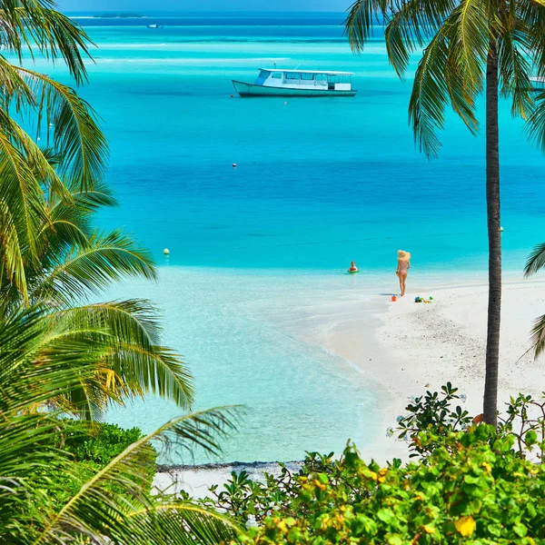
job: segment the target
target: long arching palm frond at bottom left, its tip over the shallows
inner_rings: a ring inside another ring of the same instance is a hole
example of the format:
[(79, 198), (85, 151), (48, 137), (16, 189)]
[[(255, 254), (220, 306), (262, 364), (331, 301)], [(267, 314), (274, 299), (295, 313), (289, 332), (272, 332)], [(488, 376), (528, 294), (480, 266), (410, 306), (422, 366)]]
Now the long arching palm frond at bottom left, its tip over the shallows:
[[(144, 535), (144, 531), (148, 533), (149, 541), (146, 542), (163, 542), (159, 537), (164, 536), (164, 530), (172, 527), (175, 513), (180, 526), (192, 539), (198, 539), (196, 542), (217, 543), (217, 538), (203, 540), (206, 536), (214, 536), (214, 530), (205, 529), (203, 525), (210, 520), (215, 528), (218, 521), (223, 521), (217, 513), (208, 513), (199, 508), (184, 510), (183, 504), (176, 509), (166, 509), (163, 502), (157, 510), (154, 509), (154, 500), (143, 487), (145, 467), (150, 462), (148, 445), (154, 440), (162, 441), (171, 449), (173, 446), (187, 449), (192, 444), (198, 444), (205, 451), (217, 454), (217, 438), (233, 430), (235, 416), (236, 408), (233, 407), (195, 412), (174, 419), (135, 442), (85, 482), (32, 542), (39, 545), (60, 539), (67, 532), (85, 535), (97, 542), (105, 542), (108, 536), (113, 535), (123, 542), (131, 535)], [(112, 493), (113, 485), (123, 490), (123, 494)], [(132, 498), (130, 502), (127, 496)], [(148, 514), (147, 517), (143, 515), (144, 512)], [(159, 520), (163, 520), (163, 524), (159, 524)], [(227, 531), (227, 521), (223, 521), (223, 524)], [(192, 533), (189, 533), (192, 528)], [(231, 535), (234, 537), (234, 531)]]

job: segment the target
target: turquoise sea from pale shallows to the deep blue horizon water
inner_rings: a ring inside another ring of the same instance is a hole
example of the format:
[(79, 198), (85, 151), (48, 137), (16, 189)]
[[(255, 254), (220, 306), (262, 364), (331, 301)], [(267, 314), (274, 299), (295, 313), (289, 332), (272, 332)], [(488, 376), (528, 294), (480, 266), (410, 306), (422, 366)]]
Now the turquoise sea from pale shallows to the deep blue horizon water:
[[(161, 265), (157, 284), (126, 282), (111, 296), (157, 302), (198, 408), (246, 405), (223, 460), (372, 441), (383, 430), (369, 377), (290, 328), (328, 302), (394, 290), (399, 248), (415, 273), (483, 272), (484, 138), (449, 114), (441, 156), (419, 154), (407, 124), (414, 65), (401, 82), (380, 31), (352, 55), (339, 14), (74, 16), (97, 45), (81, 94), (103, 119), (120, 202), (101, 222), (134, 233)], [(273, 62), (351, 71), (359, 94), (232, 97), (232, 79)], [(47, 71), (67, 81), (61, 66)], [(505, 264), (520, 271), (545, 237), (545, 158), (508, 104), (501, 156)], [(342, 275), (352, 259), (357, 279)], [(175, 414), (148, 399), (109, 419), (150, 431)]]

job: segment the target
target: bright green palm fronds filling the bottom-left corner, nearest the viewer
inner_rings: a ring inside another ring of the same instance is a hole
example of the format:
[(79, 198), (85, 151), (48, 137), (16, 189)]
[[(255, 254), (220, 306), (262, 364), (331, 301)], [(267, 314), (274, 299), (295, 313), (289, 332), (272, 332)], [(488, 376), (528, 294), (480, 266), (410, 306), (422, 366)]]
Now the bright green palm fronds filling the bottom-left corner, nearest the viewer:
[[(69, 395), (79, 377), (97, 390), (96, 357), (109, 342), (74, 332), (70, 322), (52, 327), (44, 308), (23, 308), (0, 322), (0, 541), (8, 543), (201, 543), (235, 537), (233, 523), (190, 501), (145, 490), (150, 441), (217, 453), (217, 439), (233, 429), (234, 408), (174, 419), (129, 446), (87, 481), (60, 448), (62, 425), (54, 411), (35, 411)], [(99, 332), (95, 328), (94, 332)], [(105, 340), (105, 336), (104, 336)], [(47, 361), (37, 364), (43, 354)], [(72, 428), (73, 429), (73, 428)], [(62, 505), (51, 496), (68, 476), (79, 490)]]

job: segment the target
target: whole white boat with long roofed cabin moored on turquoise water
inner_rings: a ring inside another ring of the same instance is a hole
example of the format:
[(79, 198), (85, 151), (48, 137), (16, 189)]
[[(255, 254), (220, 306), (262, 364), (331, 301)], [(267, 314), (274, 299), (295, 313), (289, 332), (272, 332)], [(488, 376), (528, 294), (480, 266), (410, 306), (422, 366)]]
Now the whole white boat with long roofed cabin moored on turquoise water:
[(354, 96), (352, 72), (261, 68), (253, 84), (233, 80), (241, 96)]

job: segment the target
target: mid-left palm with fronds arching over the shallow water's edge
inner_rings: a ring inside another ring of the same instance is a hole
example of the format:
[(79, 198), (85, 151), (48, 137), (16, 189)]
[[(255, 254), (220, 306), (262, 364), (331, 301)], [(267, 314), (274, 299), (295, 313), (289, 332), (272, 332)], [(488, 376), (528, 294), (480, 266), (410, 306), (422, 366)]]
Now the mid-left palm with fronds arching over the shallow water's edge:
[[(0, 272), (0, 321), (25, 304), (45, 302), (44, 318), (52, 324), (70, 323), (74, 332), (100, 342), (107, 339), (108, 349), (100, 357), (95, 355), (96, 372), (107, 388), (96, 391), (81, 380), (69, 398), (55, 399), (64, 411), (96, 419), (109, 401), (123, 402), (146, 391), (188, 409), (193, 401), (191, 376), (180, 358), (161, 345), (153, 305), (138, 299), (85, 303), (124, 276), (154, 279), (155, 271), (149, 255), (129, 237), (119, 231), (99, 233), (94, 229), (96, 210), (114, 204), (104, 183), (94, 183), (84, 192), (77, 185), (67, 184), (69, 200), (56, 194), (43, 197), (47, 220), (35, 221), (33, 251), (24, 247), (20, 253), (18, 269), (25, 276), (25, 295)], [(97, 327), (99, 332), (94, 332)]]

